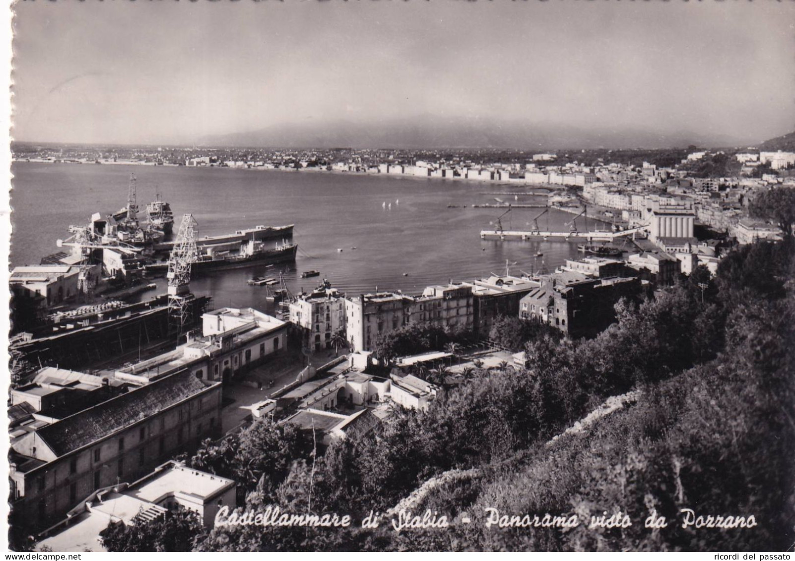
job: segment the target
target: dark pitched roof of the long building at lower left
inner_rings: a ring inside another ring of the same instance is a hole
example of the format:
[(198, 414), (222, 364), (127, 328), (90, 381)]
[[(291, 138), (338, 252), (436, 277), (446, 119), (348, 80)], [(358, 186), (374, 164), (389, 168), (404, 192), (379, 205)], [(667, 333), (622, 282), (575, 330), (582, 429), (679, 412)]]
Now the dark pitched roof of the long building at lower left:
[(184, 370), (68, 416), (39, 429), (37, 434), (56, 455), (62, 456), (195, 396), (207, 387), (189, 370)]

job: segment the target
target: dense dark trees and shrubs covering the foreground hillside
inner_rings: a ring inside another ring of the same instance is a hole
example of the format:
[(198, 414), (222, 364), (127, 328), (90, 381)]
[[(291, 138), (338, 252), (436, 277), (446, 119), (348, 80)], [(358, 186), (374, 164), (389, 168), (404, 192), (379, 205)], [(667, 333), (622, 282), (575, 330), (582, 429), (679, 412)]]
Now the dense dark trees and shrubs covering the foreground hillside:
[[(374, 432), (334, 443), (322, 456), (311, 436), (268, 420), (207, 443), (192, 465), (237, 479), (247, 509), (345, 513), (354, 524), (219, 527), (194, 547), (784, 550), (795, 540), (793, 248), (789, 236), (744, 246), (704, 290), (700, 271), (642, 304), (621, 302), (617, 322), (595, 339), (526, 333), (510, 346), (524, 346), (527, 369), (475, 369), (428, 412), (397, 410)], [(549, 442), (607, 397), (630, 390), (639, 390), (635, 404)], [(472, 471), (436, 486), (413, 512), (444, 514), (450, 528), (397, 533), (387, 520), (361, 528), (371, 510), (384, 513), (449, 470)], [(577, 514), (580, 525), (486, 528), (487, 508)], [(758, 525), (682, 528), (681, 509), (754, 515)], [(666, 528), (644, 528), (652, 510)], [(618, 511), (630, 526), (588, 528), (591, 516)], [(460, 523), (464, 512), (471, 524)]]

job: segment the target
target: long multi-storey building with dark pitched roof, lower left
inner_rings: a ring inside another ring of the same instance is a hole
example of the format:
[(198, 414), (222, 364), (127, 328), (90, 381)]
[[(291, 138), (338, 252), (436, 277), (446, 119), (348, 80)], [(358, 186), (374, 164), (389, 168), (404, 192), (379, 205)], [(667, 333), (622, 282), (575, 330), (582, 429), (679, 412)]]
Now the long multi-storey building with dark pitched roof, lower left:
[(189, 369), (47, 423), (32, 414), (11, 440), (14, 523), (41, 530), (96, 489), (142, 477), (220, 434), (221, 384)]

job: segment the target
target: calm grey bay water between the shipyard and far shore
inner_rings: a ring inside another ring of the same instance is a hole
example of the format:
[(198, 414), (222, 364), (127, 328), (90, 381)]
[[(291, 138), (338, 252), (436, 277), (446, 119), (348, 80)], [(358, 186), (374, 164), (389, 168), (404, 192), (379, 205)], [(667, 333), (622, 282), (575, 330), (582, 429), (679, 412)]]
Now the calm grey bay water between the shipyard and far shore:
[[(349, 294), (371, 292), (376, 286), (417, 293), (429, 284), (504, 273), (506, 260), (511, 273), (519, 274), (541, 266), (553, 270), (578, 255), (576, 244), (568, 242), (481, 240), (480, 230), (504, 209), (448, 208), (494, 203), (494, 195), (483, 194), (487, 192), (523, 191), (514, 185), (343, 173), (29, 162), (14, 163), (12, 172), (12, 266), (38, 263), (59, 251), (56, 239), (69, 236), (69, 225), (87, 224), (94, 212), (107, 215), (123, 207), (130, 172), (138, 178), (139, 205), (153, 200), (156, 185), (171, 203), (175, 231), (184, 213), (196, 219), (200, 236), (258, 224), (294, 223), (293, 240), (299, 246), (295, 265), (216, 272), (192, 282), (192, 291), (210, 294), (216, 307), (272, 309), (263, 289), (248, 286), (246, 279), (270, 276), (279, 269), (285, 270), (292, 290), (313, 288), (326, 277)], [(544, 200), (524, 195), (518, 203)], [(382, 208), (382, 203), (392, 203), (391, 210)], [(525, 229), (541, 210), (516, 208), (502, 225), (506, 230)], [(550, 210), (539, 225), (568, 230), (566, 222), (572, 218)], [(588, 222), (591, 226), (593, 221)], [(578, 226), (582, 227), (579, 220)], [(535, 257), (538, 251), (544, 256)], [(308, 269), (320, 271), (321, 276), (301, 279), (300, 273)], [(157, 282), (165, 286), (165, 281)]]

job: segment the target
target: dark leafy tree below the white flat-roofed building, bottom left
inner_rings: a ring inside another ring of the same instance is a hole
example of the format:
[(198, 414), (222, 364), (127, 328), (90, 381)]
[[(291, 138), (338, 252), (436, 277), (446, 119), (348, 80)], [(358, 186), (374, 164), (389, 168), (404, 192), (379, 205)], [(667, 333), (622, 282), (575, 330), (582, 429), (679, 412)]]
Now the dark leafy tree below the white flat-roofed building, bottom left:
[(135, 518), (129, 526), (111, 521), (99, 540), (107, 551), (191, 551), (203, 534), (199, 515), (178, 505), (153, 520)]

